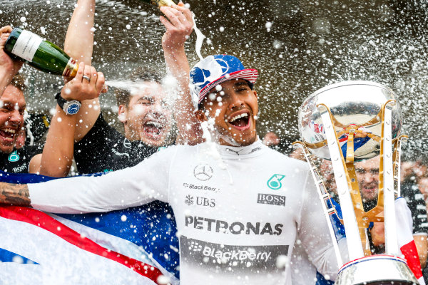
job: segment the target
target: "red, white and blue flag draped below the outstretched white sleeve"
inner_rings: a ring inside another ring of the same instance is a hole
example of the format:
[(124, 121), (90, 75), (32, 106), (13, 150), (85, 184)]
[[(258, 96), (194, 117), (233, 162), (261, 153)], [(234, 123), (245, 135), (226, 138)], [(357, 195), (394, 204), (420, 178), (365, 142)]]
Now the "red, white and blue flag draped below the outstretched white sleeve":
[(163, 232), (170, 229), (153, 226), (157, 234), (145, 239), (144, 214), (136, 207), (60, 217), (0, 207), (0, 284), (178, 284), (178, 248)]

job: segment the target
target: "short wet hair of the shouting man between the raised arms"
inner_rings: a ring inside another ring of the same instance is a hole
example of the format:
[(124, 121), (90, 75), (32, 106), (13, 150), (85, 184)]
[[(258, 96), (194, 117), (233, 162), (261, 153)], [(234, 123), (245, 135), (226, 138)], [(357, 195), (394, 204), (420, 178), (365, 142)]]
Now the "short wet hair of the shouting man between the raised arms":
[[(151, 81), (162, 84), (163, 77), (163, 73), (153, 68), (138, 67), (128, 76), (128, 79), (135, 82)], [(131, 93), (129, 90), (118, 88), (114, 94), (116, 95), (116, 102), (118, 105), (124, 105), (126, 108), (129, 107), (129, 101), (131, 100)]]

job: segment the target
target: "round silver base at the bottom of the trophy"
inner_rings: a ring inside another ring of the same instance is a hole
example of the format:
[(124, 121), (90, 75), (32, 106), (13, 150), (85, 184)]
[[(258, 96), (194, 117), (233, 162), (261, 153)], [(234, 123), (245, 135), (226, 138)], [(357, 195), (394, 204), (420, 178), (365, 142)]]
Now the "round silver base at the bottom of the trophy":
[(419, 285), (407, 262), (390, 255), (372, 255), (350, 261), (339, 270), (336, 285)]

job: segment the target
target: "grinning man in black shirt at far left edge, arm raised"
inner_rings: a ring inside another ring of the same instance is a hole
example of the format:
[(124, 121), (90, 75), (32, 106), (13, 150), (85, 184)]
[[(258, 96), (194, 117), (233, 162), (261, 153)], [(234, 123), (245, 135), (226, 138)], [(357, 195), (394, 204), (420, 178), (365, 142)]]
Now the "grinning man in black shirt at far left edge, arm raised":
[(24, 128), (25, 83), (18, 73), (22, 62), (4, 52), (11, 31), (10, 26), (0, 28), (0, 170), (26, 173), (31, 157), (41, 150), (29, 145), (22, 147), (18, 140)]

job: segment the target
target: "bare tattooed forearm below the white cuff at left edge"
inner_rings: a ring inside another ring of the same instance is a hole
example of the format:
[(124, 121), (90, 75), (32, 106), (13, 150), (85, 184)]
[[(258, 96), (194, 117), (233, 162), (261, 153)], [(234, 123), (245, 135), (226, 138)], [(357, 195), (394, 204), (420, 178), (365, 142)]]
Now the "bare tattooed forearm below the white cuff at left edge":
[(29, 187), (26, 184), (0, 182), (0, 204), (30, 206)]

